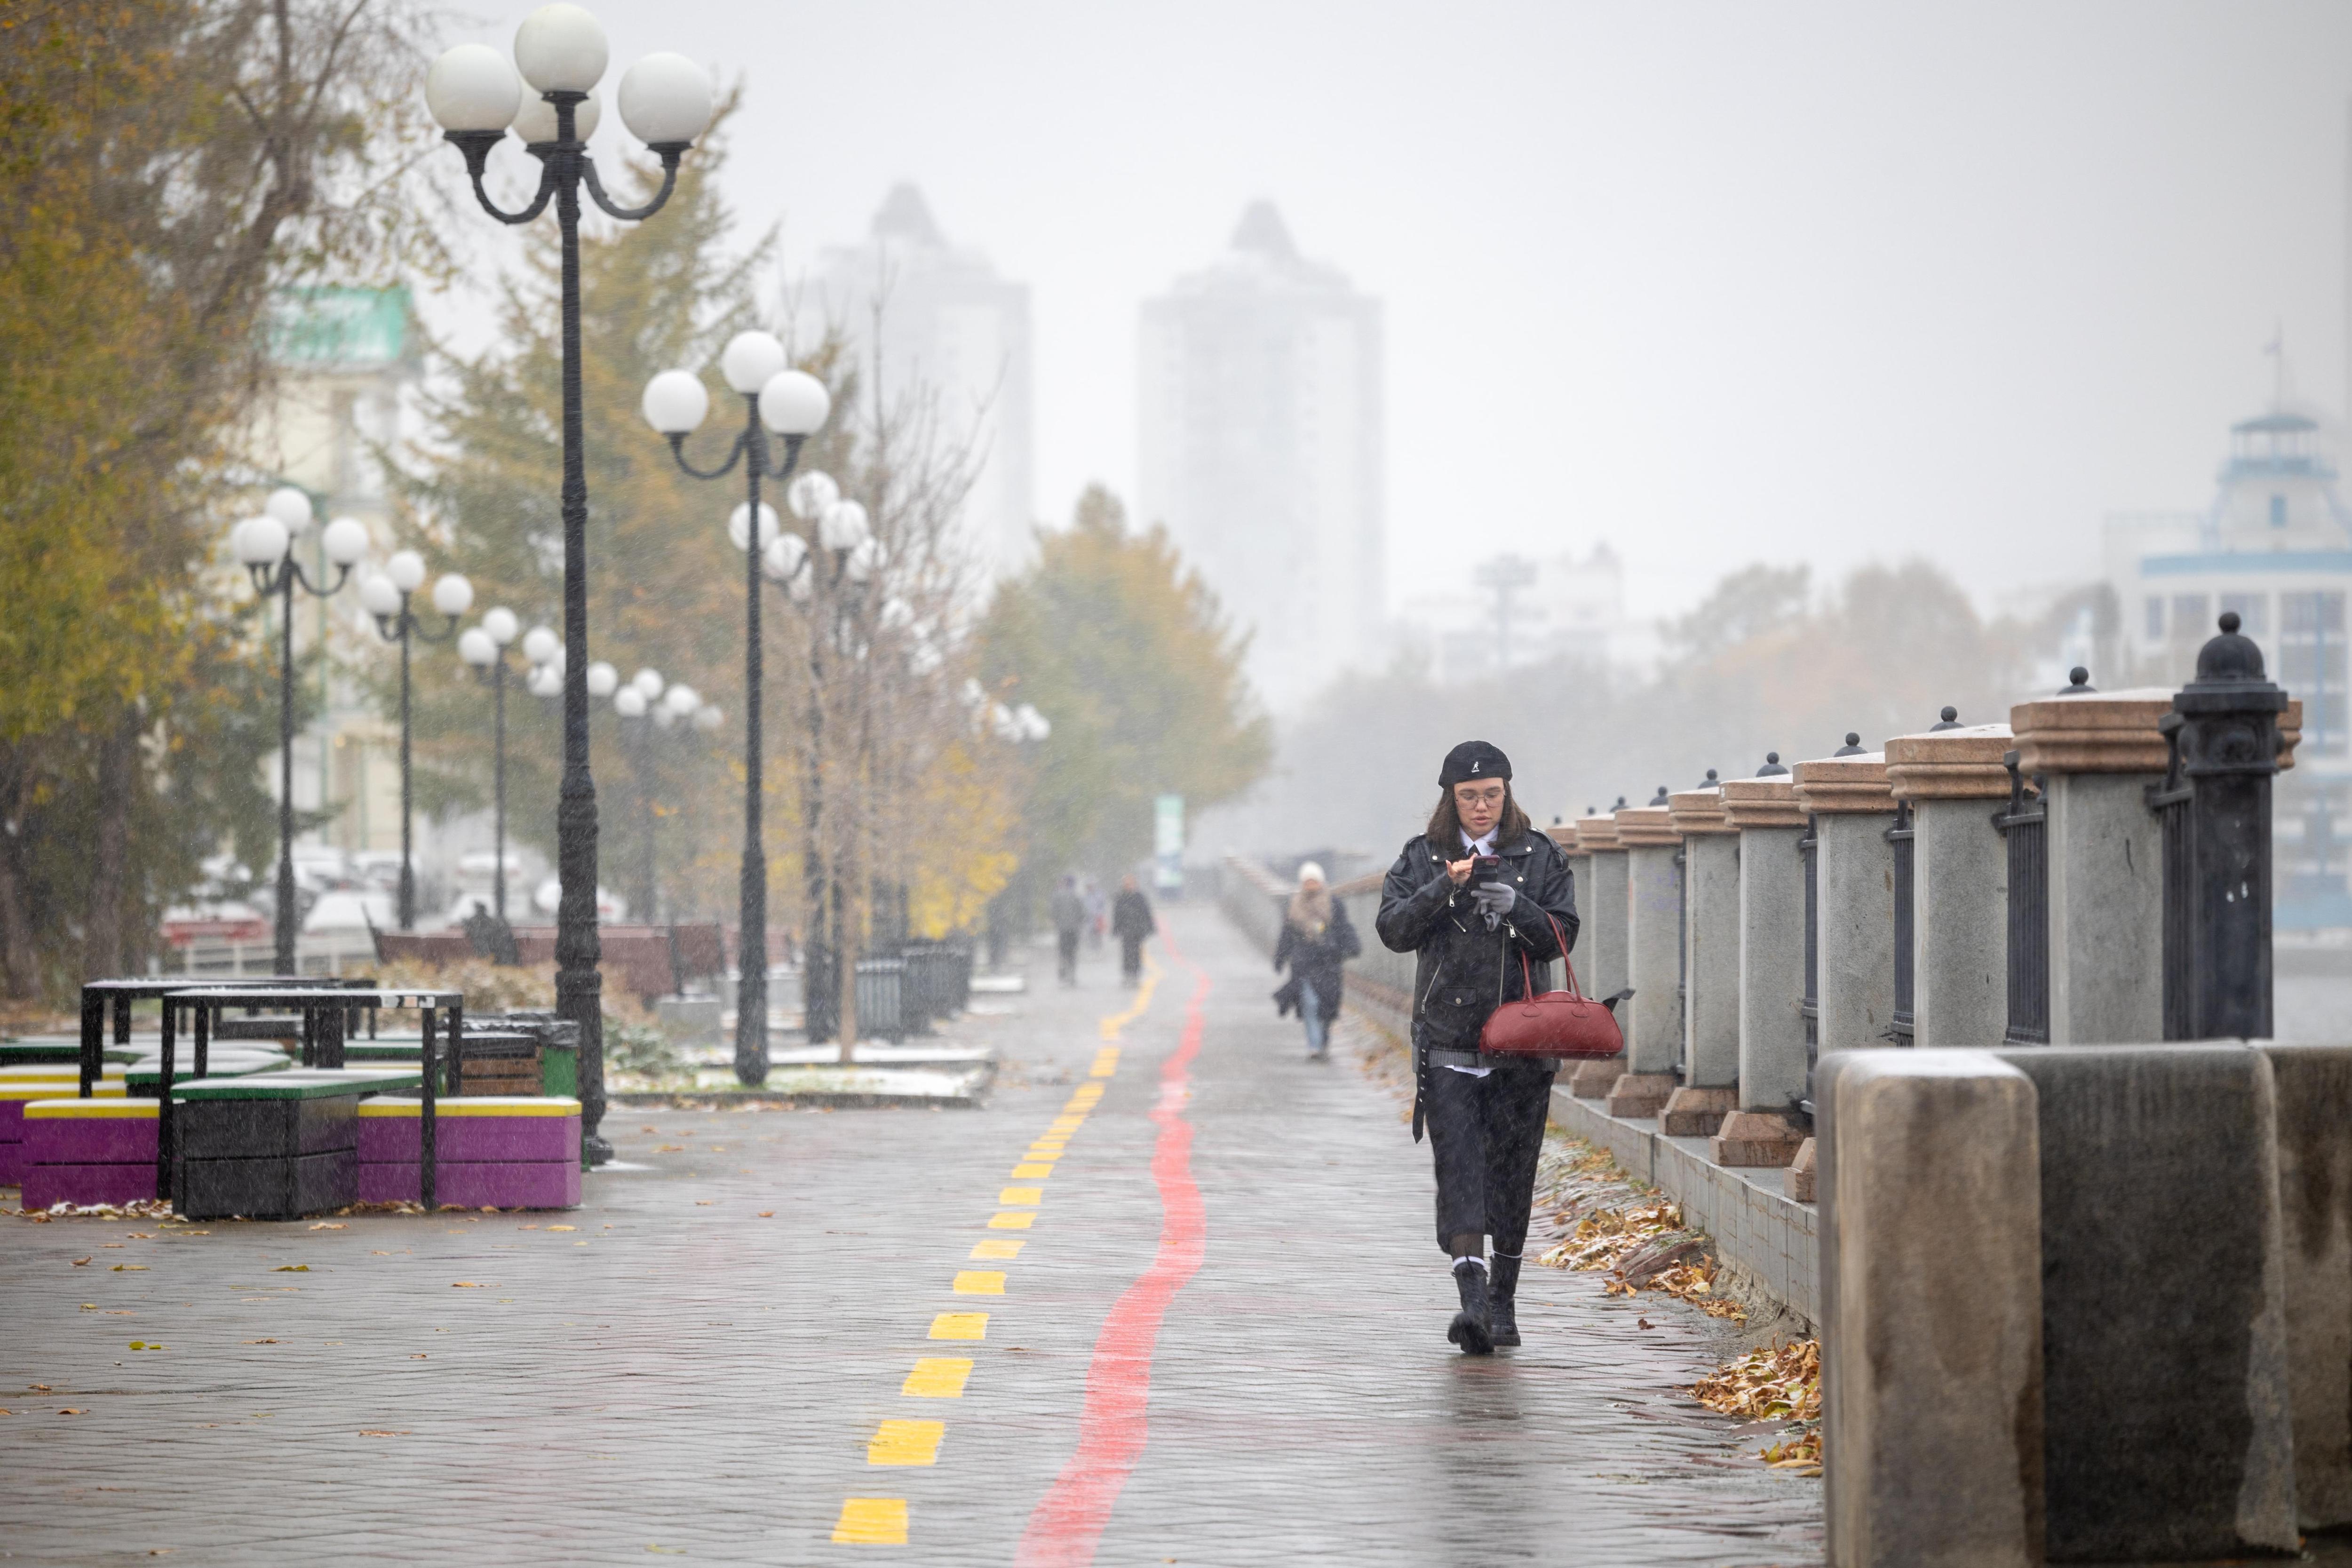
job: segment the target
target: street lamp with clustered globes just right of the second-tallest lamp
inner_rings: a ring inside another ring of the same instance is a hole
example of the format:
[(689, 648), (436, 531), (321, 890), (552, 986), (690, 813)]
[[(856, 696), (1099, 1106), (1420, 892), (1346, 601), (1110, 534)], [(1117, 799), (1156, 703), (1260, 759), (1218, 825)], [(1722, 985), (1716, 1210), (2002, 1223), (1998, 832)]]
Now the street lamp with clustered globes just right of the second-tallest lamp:
[[(826, 646), (840, 642), (844, 588), (873, 576), (877, 545), (866, 508), (842, 498), (833, 475), (804, 473), (786, 489), (793, 515), (807, 534), (781, 534), (764, 550), (767, 576), (809, 616), (809, 769), (802, 788), (802, 893), (807, 943), (802, 943), (802, 1009), (809, 1039), (842, 1037), (842, 1060), (856, 1051), (856, 973), (842, 973), (842, 922), (847, 900), (830, 875), (823, 849), (826, 818)], [(830, 907), (828, 907), (830, 905)], [(842, 987), (849, 985), (847, 1018)], [(844, 1027), (847, 1023), (847, 1027)]]

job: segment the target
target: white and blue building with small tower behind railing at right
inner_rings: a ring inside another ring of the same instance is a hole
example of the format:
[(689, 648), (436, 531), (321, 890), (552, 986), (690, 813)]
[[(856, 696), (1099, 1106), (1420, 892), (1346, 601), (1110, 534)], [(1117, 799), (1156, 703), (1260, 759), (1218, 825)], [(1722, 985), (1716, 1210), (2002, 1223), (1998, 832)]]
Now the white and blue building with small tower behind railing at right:
[(2206, 510), (2110, 517), (2105, 552), (2133, 682), (2185, 682), (2220, 614), (2237, 611), (2270, 677), (2303, 701), (2303, 741), (2274, 792), (2274, 922), (2352, 929), (2352, 510), (2319, 421), (2284, 402), (2239, 421)]

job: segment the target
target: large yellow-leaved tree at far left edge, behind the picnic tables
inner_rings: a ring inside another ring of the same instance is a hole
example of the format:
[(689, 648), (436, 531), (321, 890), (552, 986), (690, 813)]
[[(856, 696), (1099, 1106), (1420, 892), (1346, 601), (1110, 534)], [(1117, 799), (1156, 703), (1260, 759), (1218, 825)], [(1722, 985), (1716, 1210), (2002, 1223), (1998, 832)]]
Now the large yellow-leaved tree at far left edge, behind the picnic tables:
[(0, 26), (0, 987), (113, 973), (273, 849), (256, 625), (207, 571), (261, 320), (430, 266), (397, 0), (19, 0)]

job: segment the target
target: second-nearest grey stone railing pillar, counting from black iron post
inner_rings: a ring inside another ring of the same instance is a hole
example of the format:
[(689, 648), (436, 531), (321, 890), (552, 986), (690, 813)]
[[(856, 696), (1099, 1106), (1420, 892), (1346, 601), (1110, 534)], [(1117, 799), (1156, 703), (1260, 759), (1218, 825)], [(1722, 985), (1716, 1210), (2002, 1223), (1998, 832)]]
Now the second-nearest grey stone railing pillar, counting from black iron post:
[(1912, 809), (1912, 1044), (1997, 1046), (2009, 1027), (2006, 724), (1886, 741), (1886, 783)]

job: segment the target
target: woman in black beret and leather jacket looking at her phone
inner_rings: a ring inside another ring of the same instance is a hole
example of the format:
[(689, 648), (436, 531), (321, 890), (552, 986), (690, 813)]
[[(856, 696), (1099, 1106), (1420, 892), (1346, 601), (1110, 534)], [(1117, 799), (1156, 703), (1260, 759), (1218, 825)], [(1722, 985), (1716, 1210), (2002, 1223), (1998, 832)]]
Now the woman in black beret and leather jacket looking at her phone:
[[(1503, 1001), (1552, 990), (1550, 959), (1576, 945), (1569, 858), (1510, 790), (1510, 757), (1486, 741), (1446, 752), (1437, 811), (1381, 884), (1381, 940), (1414, 961), (1414, 1140), (1430, 1131), (1437, 1246), (1461, 1312), (1446, 1338), (1482, 1356), (1519, 1342), (1515, 1293), (1536, 1201), (1536, 1159), (1557, 1060), (1484, 1056)], [(1494, 1260), (1486, 1260), (1486, 1239)]]

